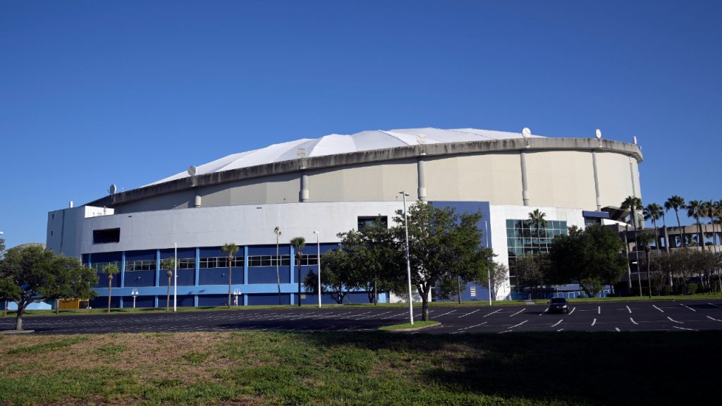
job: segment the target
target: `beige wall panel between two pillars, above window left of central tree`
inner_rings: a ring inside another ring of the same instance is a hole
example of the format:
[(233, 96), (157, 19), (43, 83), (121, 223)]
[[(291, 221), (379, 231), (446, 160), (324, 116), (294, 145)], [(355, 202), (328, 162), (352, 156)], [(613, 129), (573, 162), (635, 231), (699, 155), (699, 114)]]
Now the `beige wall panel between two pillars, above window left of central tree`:
[(405, 190), (418, 199), (416, 160), (309, 170), (309, 202), (393, 202)]

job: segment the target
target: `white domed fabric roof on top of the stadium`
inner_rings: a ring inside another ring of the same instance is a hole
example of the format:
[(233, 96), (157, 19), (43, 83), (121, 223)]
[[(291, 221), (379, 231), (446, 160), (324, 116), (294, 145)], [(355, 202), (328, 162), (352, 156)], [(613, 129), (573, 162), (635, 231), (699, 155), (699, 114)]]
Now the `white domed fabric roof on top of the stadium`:
[[(480, 129), (395, 129), (361, 131), (356, 134), (329, 134), (316, 139), (297, 139), (295, 141), (273, 144), (260, 150), (239, 152), (218, 160), (199, 165), (196, 175), (246, 168), (249, 166), (264, 165), (266, 163), (282, 162), (284, 160), (298, 159), (299, 153), (305, 157), (320, 157), (323, 155), (345, 154), (369, 150), (383, 150), (386, 148), (406, 147), (407, 145), (443, 144), (449, 142), (493, 141), (496, 139), (521, 138), (521, 133), (490, 131)], [(531, 135), (531, 137), (539, 137)], [(300, 150), (303, 148), (303, 150)], [(155, 185), (175, 179), (186, 178), (188, 172), (183, 171), (160, 181), (150, 183)]]

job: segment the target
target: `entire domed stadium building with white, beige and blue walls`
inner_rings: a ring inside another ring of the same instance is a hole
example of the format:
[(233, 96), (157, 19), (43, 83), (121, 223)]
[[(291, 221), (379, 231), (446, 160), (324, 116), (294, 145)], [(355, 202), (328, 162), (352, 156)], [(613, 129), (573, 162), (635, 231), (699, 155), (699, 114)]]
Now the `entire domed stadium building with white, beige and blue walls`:
[[(613, 223), (627, 196), (640, 196), (636, 144), (601, 138), (552, 138), (479, 129), (396, 129), (331, 134), (240, 152), (138, 189), (48, 213), (47, 247), (98, 271), (115, 263), (113, 306), (165, 306), (162, 259), (178, 258), (178, 306), (227, 302), (224, 243), (240, 247), (232, 264), (238, 305), (313, 303), (297, 295), (290, 238), (303, 236), (303, 274), (337, 233), (401, 210), (400, 191), (460, 211), (481, 210), (484, 243), (510, 264), (497, 298), (513, 295), (513, 259), (547, 248), (567, 227)], [(191, 173), (193, 175), (191, 176)], [(529, 212), (546, 213), (541, 241), (529, 238)], [(487, 223), (484, 223), (487, 222)], [(282, 231), (277, 257), (274, 228)], [(525, 231), (526, 230), (526, 231)], [(315, 234), (317, 231), (318, 234)], [(279, 276), (277, 277), (277, 264)], [(97, 303), (107, 303), (101, 275)], [(486, 300), (479, 285), (466, 300)], [(367, 301), (365, 293), (351, 299)], [(382, 295), (382, 300), (389, 300)], [(235, 301), (235, 298), (234, 298)], [(331, 301), (331, 298), (324, 298)]]

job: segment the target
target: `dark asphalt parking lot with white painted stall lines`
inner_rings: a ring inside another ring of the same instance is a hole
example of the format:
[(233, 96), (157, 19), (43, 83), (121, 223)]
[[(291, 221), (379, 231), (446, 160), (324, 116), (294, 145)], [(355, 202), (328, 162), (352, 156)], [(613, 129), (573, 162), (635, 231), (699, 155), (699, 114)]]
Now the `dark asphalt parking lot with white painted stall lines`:
[[(514, 332), (684, 332), (722, 329), (722, 301), (639, 301), (571, 303), (568, 314), (548, 314), (546, 305), (432, 307), (430, 319), (441, 325), (412, 334)], [(420, 306), (414, 319), (421, 319)], [(247, 308), (231, 311), (33, 316), (25, 329), (39, 334), (101, 334), (108, 332), (190, 332), (274, 330), (295, 332), (365, 332), (408, 320), (405, 308)], [(0, 329), (14, 328), (14, 319), (0, 320)]]

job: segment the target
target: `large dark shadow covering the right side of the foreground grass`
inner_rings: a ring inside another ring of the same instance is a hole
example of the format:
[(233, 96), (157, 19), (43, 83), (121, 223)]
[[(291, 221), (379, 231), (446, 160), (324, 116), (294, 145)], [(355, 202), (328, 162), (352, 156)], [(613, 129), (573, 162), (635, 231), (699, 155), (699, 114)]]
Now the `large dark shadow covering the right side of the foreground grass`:
[[(427, 354), (418, 379), (454, 393), (583, 405), (697, 405), (718, 386), (722, 332), (435, 336), (299, 334), (308, 345)], [(716, 400), (713, 404), (717, 403)]]

